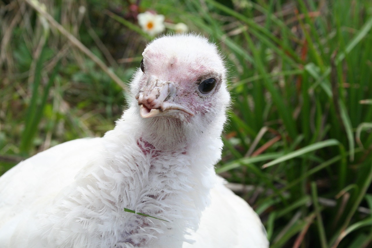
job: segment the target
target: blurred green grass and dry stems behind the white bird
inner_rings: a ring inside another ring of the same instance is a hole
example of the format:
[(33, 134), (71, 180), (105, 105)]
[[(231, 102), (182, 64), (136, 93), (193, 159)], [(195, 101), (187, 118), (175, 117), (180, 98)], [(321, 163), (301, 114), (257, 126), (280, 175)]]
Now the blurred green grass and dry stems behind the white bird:
[(216, 170), (271, 247), (372, 247), (371, 0), (2, 0), (0, 175), (114, 127), (153, 39), (146, 11), (224, 54), (234, 103)]

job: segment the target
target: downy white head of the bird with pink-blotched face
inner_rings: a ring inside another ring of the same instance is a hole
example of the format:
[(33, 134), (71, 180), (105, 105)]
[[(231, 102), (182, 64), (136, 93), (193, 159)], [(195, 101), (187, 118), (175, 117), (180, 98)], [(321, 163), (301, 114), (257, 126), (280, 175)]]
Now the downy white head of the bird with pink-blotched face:
[(142, 55), (131, 83), (131, 107), (143, 127), (141, 139), (158, 150), (219, 139), (230, 94), (216, 45), (193, 34), (163, 36)]

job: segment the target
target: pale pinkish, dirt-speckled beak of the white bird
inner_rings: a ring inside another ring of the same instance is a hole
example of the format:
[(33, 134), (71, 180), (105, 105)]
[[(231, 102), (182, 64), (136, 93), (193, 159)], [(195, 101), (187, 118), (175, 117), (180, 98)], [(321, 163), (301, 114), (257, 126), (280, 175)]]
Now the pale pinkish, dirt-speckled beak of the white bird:
[(141, 117), (172, 115), (179, 111), (192, 116), (193, 113), (188, 108), (174, 103), (176, 91), (175, 83), (161, 81), (151, 76), (136, 96), (138, 105), (140, 105)]

